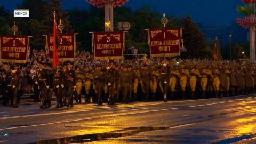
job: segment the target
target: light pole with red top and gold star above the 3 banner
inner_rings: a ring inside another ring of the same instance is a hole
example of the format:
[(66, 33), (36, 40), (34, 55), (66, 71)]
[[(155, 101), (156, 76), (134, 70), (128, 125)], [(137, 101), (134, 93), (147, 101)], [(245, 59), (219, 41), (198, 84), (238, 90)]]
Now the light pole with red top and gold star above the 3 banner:
[[(113, 9), (116, 6), (122, 6), (129, 0), (86, 0), (90, 4), (92, 4), (95, 7), (101, 8), (105, 7), (105, 22), (108, 25), (108, 27), (105, 26), (105, 31), (113, 31), (114, 30), (114, 18), (113, 18)], [(106, 24), (106, 23), (105, 23)]]

